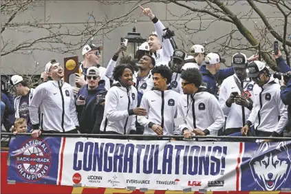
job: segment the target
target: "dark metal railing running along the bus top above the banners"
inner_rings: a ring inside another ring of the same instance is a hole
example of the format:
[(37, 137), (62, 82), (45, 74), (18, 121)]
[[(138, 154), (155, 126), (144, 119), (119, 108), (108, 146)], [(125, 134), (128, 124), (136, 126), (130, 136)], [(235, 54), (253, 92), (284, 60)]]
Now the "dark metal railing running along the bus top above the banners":
[[(9, 136), (31, 136), (31, 133), (13, 133), (2, 132), (1, 138)], [(87, 133), (42, 133), (41, 137), (66, 137), (66, 138), (111, 138), (116, 136), (120, 138), (153, 138), (157, 140), (164, 140), (163, 138), (179, 138), (183, 140), (184, 136), (155, 136), (155, 135), (116, 135), (116, 134), (87, 134)], [(248, 137), (248, 136), (191, 136), (193, 139), (226, 139), (226, 140), (277, 140), (277, 141), (290, 141), (291, 137)]]

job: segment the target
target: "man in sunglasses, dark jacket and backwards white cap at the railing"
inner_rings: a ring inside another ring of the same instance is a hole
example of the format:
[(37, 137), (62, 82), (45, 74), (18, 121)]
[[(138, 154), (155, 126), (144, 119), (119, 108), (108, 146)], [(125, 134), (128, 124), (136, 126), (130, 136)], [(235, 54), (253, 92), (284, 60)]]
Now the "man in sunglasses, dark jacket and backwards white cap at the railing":
[(103, 120), (104, 101), (107, 93), (104, 85), (99, 85), (100, 72), (97, 67), (87, 69), (87, 85), (80, 88), (76, 96), (76, 110), (80, 133), (100, 133)]

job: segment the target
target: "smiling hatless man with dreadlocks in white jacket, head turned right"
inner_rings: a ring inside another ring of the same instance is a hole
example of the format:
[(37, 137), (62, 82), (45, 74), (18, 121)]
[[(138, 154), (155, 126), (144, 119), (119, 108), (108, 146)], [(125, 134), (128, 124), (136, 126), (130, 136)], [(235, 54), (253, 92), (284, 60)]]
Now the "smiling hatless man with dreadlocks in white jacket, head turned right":
[[(106, 134), (130, 134), (136, 132), (136, 116), (146, 115), (145, 109), (137, 107), (138, 91), (133, 87), (133, 67), (118, 65), (113, 72), (117, 81), (105, 97), (105, 111), (100, 131)], [(118, 137), (116, 137), (118, 138)]]

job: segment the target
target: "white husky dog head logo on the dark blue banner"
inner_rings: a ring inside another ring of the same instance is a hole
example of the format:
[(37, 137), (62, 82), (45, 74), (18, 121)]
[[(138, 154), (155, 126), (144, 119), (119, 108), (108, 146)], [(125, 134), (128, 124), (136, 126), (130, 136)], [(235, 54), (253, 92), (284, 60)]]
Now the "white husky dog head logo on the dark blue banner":
[(277, 191), (286, 182), (290, 168), (291, 160), (285, 142), (261, 143), (250, 160), (252, 177), (263, 191)]

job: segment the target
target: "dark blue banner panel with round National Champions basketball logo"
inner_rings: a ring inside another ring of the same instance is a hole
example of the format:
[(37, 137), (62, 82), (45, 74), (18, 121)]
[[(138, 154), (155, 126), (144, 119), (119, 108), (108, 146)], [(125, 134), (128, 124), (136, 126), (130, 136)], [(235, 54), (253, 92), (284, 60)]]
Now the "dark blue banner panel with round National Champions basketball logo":
[(9, 145), (8, 180), (56, 184), (61, 138), (18, 136)]

